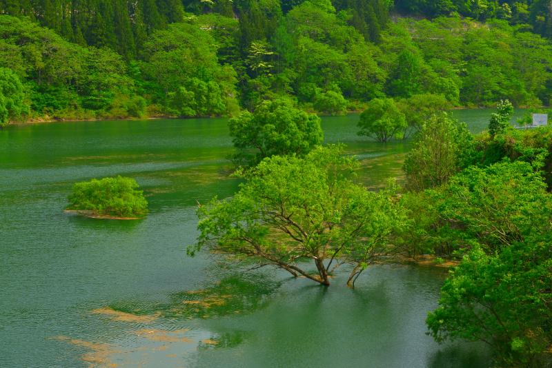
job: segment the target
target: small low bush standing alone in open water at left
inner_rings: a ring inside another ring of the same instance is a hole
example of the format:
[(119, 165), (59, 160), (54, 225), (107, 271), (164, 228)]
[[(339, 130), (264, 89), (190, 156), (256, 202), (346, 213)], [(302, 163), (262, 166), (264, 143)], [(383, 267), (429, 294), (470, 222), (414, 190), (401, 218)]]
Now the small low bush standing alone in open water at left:
[(133, 178), (93, 178), (73, 185), (66, 212), (92, 218), (135, 220), (148, 213), (148, 201)]

